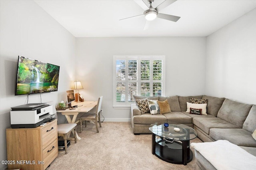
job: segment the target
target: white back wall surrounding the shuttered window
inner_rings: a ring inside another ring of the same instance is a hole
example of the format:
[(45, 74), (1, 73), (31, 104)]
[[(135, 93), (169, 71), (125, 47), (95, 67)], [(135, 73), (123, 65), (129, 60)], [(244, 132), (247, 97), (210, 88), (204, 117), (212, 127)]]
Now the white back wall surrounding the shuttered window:
[(86, 100), (103, 95), (106, 121), (130, 121), (130, 110), (113, 108), (113, 55), (166, 55), (166, 96), (205, 92), (206, 38), (76, 38), (76, 77)]

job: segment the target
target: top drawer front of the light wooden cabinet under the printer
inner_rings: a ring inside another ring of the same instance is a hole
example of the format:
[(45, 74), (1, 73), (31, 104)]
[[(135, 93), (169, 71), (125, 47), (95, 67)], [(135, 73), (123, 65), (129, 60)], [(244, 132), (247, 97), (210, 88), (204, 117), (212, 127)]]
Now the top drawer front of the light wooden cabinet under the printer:
[(46, 125), (46, 127), (42, 128), (42, 149), (44, 149), (57, 138), (57, 122), (54, 121), (51, 122), (49, 125)]

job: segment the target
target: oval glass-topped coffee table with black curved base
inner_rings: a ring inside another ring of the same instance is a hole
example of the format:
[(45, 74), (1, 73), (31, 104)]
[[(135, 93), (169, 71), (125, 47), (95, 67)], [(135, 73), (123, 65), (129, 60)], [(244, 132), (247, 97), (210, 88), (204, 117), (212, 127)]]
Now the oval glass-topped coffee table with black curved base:
[[(164, 124), (168, 123), (168, 127)], [(152, 132), (152, 154), (173, 164), (186, 165), (193, 159), (190, 140), (197, 137), (191, 127), (174, 122), (158, 122), (150, 126)]]

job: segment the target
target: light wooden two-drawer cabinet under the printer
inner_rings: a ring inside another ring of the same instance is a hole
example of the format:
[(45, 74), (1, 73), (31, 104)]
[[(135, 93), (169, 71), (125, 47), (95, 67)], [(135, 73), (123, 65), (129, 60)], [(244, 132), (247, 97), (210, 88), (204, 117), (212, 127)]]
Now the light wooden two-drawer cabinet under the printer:
[(8, 169), (45, 170), (58, 156), (57, 120), (43, 127), (6, 129)]

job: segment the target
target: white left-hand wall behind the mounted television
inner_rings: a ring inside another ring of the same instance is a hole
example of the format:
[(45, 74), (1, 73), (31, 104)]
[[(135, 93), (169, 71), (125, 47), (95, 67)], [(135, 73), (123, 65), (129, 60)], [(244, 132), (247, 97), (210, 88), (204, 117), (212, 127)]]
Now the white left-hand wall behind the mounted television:
[[(1, 0), (0, 12), (0, 160), (6, 160), (10, 108), (25, 104), (27, 97), (14, 96), (18, 55), (60, 66), (58, 92), (41, 95), (42, 102), (57, 104), (74, 80), (75, 38), (34, 1)], [(40, 95), (30, 95), (28, 102), (40, 103)]]

